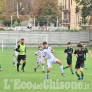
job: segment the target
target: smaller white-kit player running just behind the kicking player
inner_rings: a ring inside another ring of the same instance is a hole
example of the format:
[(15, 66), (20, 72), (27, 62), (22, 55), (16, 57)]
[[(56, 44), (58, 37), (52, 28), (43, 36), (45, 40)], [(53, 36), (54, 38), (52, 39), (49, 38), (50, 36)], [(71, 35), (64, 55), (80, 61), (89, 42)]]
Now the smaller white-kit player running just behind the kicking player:
[[(42, 63), (42, 46), (38, 47), (38, 51), (35, 53), (37, 55), (37, 66), (34, 68), (35, 72), (36, 69), (40, 66), (40, 63)], [(44, 73), (44, 64), (42, 63), (42, 72)]]

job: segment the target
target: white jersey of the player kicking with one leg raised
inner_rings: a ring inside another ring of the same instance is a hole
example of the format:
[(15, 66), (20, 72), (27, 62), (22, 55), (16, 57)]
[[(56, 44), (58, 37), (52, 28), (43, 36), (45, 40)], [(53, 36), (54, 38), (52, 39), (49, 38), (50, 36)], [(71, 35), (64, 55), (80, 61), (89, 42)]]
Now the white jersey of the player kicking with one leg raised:
[(47, 49), (43, 50), (43, 57), (45, 57), (47, 60), (55, 58), (53, 53), (51, 52), (53, 49), (51, 47), (48, 47)]

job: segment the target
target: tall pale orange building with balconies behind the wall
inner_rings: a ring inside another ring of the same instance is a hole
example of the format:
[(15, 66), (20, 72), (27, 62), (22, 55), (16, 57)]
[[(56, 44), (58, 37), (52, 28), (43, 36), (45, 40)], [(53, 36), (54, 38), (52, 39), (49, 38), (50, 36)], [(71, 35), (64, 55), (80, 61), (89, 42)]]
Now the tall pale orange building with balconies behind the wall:
[(67, 29), (80, 29), (81, 11), (76, 13), (75, 0), (60, 0), (62, 2), (62, 26)]

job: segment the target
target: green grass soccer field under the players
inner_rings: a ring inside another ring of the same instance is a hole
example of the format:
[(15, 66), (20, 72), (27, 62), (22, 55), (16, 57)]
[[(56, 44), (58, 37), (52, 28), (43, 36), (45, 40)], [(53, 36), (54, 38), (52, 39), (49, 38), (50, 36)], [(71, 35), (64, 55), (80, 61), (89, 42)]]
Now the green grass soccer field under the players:
[[(54, 48), (55, 49), (55, 57), (60, 59), (63, 62), (63, 66), (66, 66), (66, 59), (64, 58), (64, 47), (61, 48)], [(75, 49), (75, 47), (74, 47)], [(88, 49), (92, 52), (92, 47), (88, 47)], [(37, 48), (27, 48), (27, 64), (25, 67), (25, 73), (20, 71), (16, 71), (16, 67), (13, 66), (13, 48), (11, 49), (4, 49), (2, 52), (0, 49), (0, 64), (2, 65), (3, 71), (0, 72), (0, 92), (91, 92), (92, 91), (92, 60), (90, 58), (87, 58), (86, 66), (88, 69), (84, 69), (84, 81), (77, 81), (77, 77), (75, 75), (71, 75), (70, 69), (66, 69), (65, 75), (66, 77), (61, 76), (61, 70), (59, 65), (53, 65), (53, 68), (50, 72), (50, 79), (52, 79), (53, 82), (55, 82), (57, 79), (59, 82), (64, 82), (65, 86), (68, 83), (82, 83), (85, 85), (89, 85), (87, 89), (85, 88), (63, 88), (64, 85), (61, 86), (62, 89), (35, 89), (35, 83), (41, 84), (46, 79), (46, 73), (42, 73), (42, 67), (40, 66), (37, 70), (37, 72), (34, 72), (34, 67), (36, 66), (36, 56), (34, 53), (37, 51)], [(73, 56), (73, 70), (75, 68), (75, 62), (76, 57)], [(21, 69), (21, 67), (20, 67)], [(46, 71), (46, 63), (45, 63), (45, 71)], [(8, 81), (7, 81), (8, 80)], [(17, 89), (15, 88), (15, 81), (21, 80), (22, 83), (18, 83)], [(24, 82), (23, 82), (24, 81)], [(50, 80), (51, 81), (51, 80)], [(7, 85), (6, 85), (7, 82)], [(28, 83), (33, 83), (33, 88), (25, 88), (27, 87)], [(49, 81), (45, 82), (47, 83), (46, 86), (49, 85)], [(10, 86), (9, 86), (10, 85)], [(44, 84), (42, 84), (44, 85)], [(71, 85), (70, 85), (71, 86)], [(5, 88), (6, 87), (6, 88)], [(39, 87), (39, 86), (38, 86)], [(40, 87), (41, 88), (41, 87)]]

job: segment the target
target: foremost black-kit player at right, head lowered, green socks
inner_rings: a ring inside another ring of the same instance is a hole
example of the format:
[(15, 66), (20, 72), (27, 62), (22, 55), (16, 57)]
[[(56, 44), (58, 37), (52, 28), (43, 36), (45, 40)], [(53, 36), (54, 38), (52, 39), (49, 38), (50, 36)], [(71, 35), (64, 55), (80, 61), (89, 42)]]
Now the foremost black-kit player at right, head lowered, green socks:
[[(76, 65), (75, 65), (75, 73), (78, 76), (78, 80), (84, 79), (84, 60), (85, 60), (85, 50), (82, 48), (82, 45), (79, 43), (77, 44), (77, 49), (74, 52), (74, 55), (77, 57)], [(79, 75), (78, 69), (80, 69), (81, 77)]]

